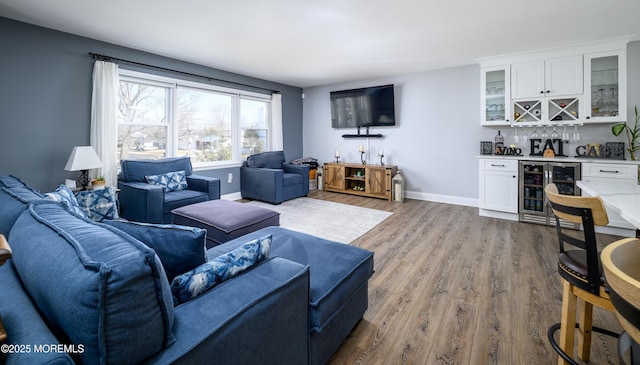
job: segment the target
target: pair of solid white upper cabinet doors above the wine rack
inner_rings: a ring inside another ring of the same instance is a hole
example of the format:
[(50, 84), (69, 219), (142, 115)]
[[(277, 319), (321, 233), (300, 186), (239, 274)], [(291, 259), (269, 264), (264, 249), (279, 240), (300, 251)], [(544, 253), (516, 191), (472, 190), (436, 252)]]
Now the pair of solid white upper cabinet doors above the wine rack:
[(513, 99), (582, 94), (582, 55), (513, 64)]

